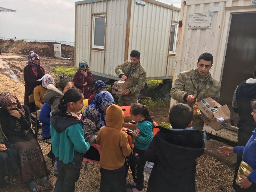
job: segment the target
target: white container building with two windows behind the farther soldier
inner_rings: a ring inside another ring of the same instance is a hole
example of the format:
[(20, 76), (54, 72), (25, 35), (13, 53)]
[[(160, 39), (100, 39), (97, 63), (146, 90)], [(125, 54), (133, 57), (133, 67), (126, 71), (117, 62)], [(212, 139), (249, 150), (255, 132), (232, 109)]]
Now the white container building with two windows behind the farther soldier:
[(115, 68), (141, 52), (147, 80), (173, 77), (180, 9), (155, 0), (75, 3), (75, 67), (87, 61), (96, 79), (119, 80)]

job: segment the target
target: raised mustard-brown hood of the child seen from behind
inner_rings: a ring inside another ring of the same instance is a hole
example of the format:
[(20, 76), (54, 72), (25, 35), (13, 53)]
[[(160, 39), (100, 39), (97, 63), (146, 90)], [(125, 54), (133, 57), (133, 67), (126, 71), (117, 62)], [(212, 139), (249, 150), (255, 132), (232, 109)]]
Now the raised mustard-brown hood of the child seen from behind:
[(124, 123), (124, 112), (118, 105), (110, 105), (106, 111), (106, 127), (122, 130)]

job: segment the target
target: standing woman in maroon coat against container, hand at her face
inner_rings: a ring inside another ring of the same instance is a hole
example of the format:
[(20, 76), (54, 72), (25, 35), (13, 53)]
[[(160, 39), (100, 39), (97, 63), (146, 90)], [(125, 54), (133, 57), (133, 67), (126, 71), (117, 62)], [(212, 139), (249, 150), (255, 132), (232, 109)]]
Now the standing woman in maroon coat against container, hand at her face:
[(86, 61), (80, 61), (79, 68), (74, 76), (74, 86), (82, 90), (84, 99), (91, 96), (91, 84), (93, 83), (93, 75)]

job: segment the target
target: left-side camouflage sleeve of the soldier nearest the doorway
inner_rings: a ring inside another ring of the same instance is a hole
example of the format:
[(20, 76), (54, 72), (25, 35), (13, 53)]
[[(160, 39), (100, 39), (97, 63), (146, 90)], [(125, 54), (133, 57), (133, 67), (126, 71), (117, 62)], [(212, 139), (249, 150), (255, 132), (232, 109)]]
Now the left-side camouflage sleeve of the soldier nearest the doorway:
[(178, 74), (178, 78), (174, 81), (172, 89), (171, 89), (171, 97), (178, 101), (178, 102), (184, 102), (183, 98), (186, 94), (188, 94), (186, 91), (184, 91), (185, 87), (185, 80), (181, 73)]

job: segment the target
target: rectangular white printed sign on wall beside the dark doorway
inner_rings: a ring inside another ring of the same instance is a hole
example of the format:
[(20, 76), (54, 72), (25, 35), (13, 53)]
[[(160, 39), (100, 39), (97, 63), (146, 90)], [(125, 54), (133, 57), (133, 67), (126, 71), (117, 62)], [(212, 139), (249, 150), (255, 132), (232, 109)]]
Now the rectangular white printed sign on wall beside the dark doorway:
[(189, 15), (188, 29), (210, 29), (212, 13), (193, 13)]

